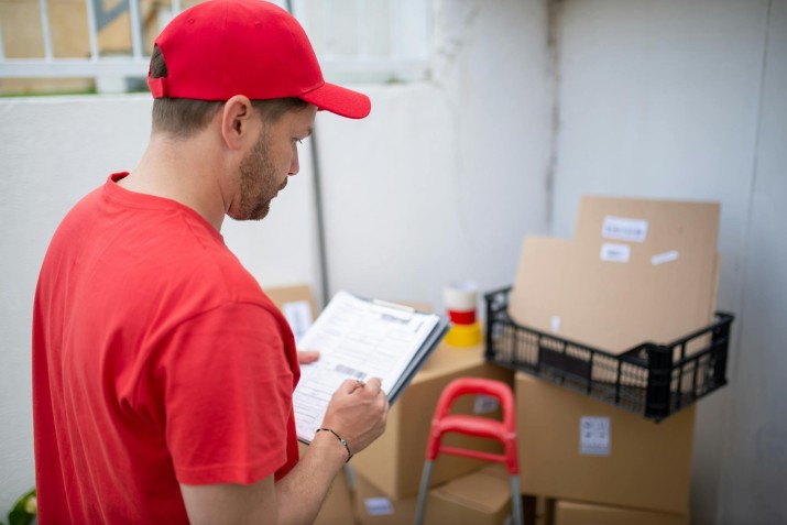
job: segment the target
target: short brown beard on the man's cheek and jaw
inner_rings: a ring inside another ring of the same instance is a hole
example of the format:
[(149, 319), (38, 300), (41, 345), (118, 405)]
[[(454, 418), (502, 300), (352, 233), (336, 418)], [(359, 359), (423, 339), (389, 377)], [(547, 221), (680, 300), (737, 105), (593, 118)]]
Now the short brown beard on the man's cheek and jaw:
[(230, 216), (237, 220), (262, 220), (271, 210), (271, 200), (284, 189), (276, 186), (276, 171), (269, 154), (269, 133), (263, 130), (254, 149), (240, 165), (240, 204), (238, 211)]

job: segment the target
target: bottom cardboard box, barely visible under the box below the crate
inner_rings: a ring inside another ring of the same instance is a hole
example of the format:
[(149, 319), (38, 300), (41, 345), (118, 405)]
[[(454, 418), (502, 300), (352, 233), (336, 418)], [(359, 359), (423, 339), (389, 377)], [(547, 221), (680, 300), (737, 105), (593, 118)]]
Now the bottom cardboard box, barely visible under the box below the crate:
[(571, 501), (555, 502), (553, 525), (689, 525), (685, 514), (594, 505)]

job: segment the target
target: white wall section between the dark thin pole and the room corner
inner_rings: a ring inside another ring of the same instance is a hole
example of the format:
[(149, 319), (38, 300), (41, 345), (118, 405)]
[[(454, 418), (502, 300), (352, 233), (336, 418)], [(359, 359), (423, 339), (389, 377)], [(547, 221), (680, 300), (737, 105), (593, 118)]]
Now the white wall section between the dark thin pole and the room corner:
[(320, 122), (326, 164), (352, 158), (324, 175), (331, 293), (441, 309), (450, 280), (510, 285), (525, 233), (546, 231), (544, 7), (436, 7), (433, 81), (372, 88), (361, 123)]

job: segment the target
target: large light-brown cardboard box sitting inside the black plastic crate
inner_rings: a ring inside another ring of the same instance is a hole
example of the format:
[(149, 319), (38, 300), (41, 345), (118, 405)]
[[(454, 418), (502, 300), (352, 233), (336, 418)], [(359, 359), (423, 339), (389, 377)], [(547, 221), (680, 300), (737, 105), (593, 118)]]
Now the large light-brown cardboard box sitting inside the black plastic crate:
[(525, 326), (621, 353), (707, 326), (719, 205), (582, 198), (572, 240), (527, 239), (510, 300)]

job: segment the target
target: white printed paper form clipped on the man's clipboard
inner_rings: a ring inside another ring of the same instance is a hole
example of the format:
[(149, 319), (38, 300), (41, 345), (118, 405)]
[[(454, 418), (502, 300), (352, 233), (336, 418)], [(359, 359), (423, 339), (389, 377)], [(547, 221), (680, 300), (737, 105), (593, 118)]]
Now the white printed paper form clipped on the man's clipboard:
[(317, 361), (300, 367), (293, 394), (298, 438), (311, 441), (331, 395), (348, 378), (380, 378), (390, 393), (438, 320), (434, 314), (336, 294), (298, 343), (320, 352)]

